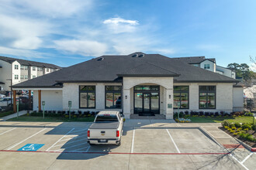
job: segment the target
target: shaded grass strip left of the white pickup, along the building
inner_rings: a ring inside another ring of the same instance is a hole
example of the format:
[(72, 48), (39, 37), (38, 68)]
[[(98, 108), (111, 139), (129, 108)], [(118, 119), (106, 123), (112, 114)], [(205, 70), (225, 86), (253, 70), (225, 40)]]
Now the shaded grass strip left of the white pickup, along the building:
[(43, 122), (63, 122), (63, 121), (94, 121), (95, 117), (72, 117), (70, 120), (68, 117), (37, 117), (37, 116), (26, 116), (14, 117), (7, 121), (43, 121)]

